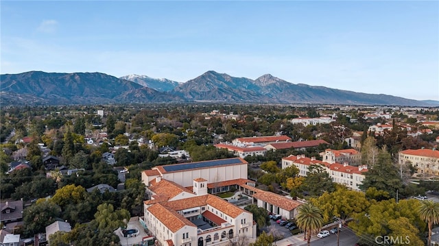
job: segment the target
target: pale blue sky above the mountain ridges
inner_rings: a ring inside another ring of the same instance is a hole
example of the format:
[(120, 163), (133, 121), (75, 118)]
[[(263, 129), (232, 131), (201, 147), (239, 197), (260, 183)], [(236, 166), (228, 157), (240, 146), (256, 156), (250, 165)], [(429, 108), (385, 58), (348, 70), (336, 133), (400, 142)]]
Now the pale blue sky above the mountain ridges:
[(439, 100), (439, 1), (0, 1), (1, 74), (206, 71)]

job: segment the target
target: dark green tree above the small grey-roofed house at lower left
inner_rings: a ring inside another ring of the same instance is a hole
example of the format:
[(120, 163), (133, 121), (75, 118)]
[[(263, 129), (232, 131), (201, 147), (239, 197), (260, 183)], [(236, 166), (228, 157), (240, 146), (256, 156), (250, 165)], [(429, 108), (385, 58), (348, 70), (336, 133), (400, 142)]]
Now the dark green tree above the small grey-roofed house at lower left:
[(54, 223), (61, 214), (60, 206), (52, 201), (40, 199), (25, 208), (23, 220), (25, 221), (25, 236), (34, 236), (38, 232), (44, 232), (47, 225)]

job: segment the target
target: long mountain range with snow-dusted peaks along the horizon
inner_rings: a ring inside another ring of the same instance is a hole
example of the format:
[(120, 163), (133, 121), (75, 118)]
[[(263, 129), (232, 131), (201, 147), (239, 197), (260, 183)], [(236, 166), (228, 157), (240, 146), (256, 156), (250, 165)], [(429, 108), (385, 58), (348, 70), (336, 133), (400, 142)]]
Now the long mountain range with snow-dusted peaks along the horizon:
[(0, 75), (0, 99), (8, 105), (105, 103), (318, 103), (342, 105), (438, 106), (383, 94), (355, 93), (323, 86), (292, 84), (270, 74), (257, 79), (207, 71), (185, 83), (145, 75), (120, 78), (104, 73), (30, 71)]

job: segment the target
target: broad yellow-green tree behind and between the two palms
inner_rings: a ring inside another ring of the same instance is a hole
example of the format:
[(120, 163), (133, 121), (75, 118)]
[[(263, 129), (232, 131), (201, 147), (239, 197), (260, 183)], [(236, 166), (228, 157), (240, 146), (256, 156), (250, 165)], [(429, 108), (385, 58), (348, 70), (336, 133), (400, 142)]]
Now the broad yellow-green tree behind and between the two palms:
[(348, 190), (341, 185), (337, 185), (332, 193), (325, 192), (317, 199), (311, 198), (311, 202), (322, 210), (324, 221), (337, 217), (342, 223), (354, 214), (366, 210), (370, 204), (364, 193)]

